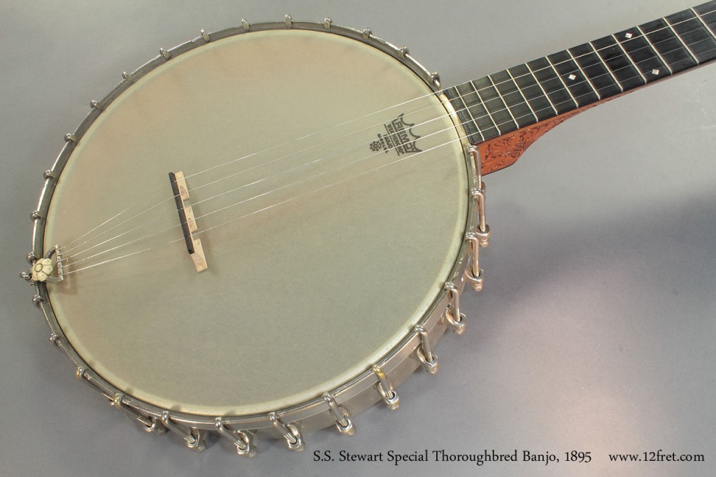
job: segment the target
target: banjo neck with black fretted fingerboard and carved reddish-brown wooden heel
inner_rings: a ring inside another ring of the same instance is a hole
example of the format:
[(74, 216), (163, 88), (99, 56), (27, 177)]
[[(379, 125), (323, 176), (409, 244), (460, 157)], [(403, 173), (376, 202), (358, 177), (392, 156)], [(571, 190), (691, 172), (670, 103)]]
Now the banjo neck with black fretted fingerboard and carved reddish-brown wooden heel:
[(482, 173), (590, 107), (716, 59), (716, 0), (449, 87)]

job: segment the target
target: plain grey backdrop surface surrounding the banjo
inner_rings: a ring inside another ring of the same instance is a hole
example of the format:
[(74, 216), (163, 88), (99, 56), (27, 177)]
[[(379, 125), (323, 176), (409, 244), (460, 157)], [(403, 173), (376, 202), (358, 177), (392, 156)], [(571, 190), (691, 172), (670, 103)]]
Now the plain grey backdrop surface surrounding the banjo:
[[(73, 1), (0, 5), (0, 462), (3, 475), (710, 475), (716, 461), (715, 67), (585, 112), (491, 175), (482, 294), (468, 329), (438, 347), (441, 370), (372, 408), (357, 435), (309, 435), (289, 453), (261, 441), (192, 453), (144, 435), (89, 387), (17, 278), (42, 171), (89, 100), (130, 70), (207, 31), (250, 21), (370, 26), (407, 44), (444, 84), (479, 77), (672, 13), (636, 1)], [(558, 464), (314, 463), (314, 450), (555, 453)], [(565, 463), (568, 450), (589, 464)], [(609, 463), (607, 453), (703, 453), (706, 463)]]

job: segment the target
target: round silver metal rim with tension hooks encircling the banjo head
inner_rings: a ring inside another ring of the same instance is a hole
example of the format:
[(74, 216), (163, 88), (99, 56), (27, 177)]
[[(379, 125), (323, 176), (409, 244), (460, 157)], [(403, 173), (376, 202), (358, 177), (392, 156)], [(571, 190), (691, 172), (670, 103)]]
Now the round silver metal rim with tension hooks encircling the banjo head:
[[(251, 430), (251, 432), (261, 430), (261, 433), (266, 433), (269, 437), (284, 436), (289, 440), (290, 444), (291, 438), (287, 434), (287, 431), (291, 431), (290, 428), (287, 428), (287, 425), (290, 425), (289, 423), (300, 422), (300, 428), (307, 430), (324, 428), (334, 423), (339, 425), (339, 421), (341, 420), (337, 418), (336, 408), (339, 409), (339, 413), (344, 413), (345, 420), (349, 422), (346, 408), (350, 411), (350, 415), (354, 415), (368, 408), (378, 400), (381, 400), (381, 398), (389, 407), (394, 406), (397, 408), (397, 392), (395, 391), (395, 387), (410, 376), (412, 372), (420, 366), (421, 361), (425, 364), (425, 356), (421, 356), (426, 349), (424, 340), (427, 339), (427, 347), (431, 347), (431, 344), (432, 347), (434, 347), (437, 339), (450, 327), (450, 319), (446, 319), (444, 316), (446, 312), (456, 309), (459, 316), (459, 295), (463, 291), (465, 282), (467, 281), (465, 275), (468, 273), (468, 256), (470, 255), (469, 236), (470, 234), (474, 236), (478, 227), (478, 221), (476, 219), (478, 201), (473, 191), (475, 188), (480, 188), (481, 180), (478, 172), (479, 168), (476, 168), (475, 165), (475, 160), (478, 160), (479, 164), (479, 158), (473, 156), (477, 154), (476, 149), (470, 149), (467, 134), (462, 125), (460, 125), (453, 106), (448, 98), (440, 91), (440, 80), (437, 74), (428, 72), (422, 64), (410, 56), (407, 52), (407, 48), (396, 47), (394, 44), (375, 37), (369, 29), (361, 31), (349, 27), (337, 26), (333, 24), (330, 19), (325, 19), (320, 22), (304, 22), (293, 21), (289, 15), (286, 15), (285, 21), (272, 21), (251, 25), (246, 21), (242, 21), (241, 26), (222, 29), (217, 32), (206, 33), (202, 30), (200, 37), (179, 44), (172, 49), (161, 49), (157, 57), (142, 64), (142, 66), (135, 69), (135, 71), (125, 73), (123, 75), (124, 80), (110, 91), (107, 96), (99, 102), (92, 102), (90, 112), (84, 120), (80, 122), (77, 129), (74, 130), (74, 133), (70, 133), (66, 136), (64, 148), (62, 148), (52, 168), (45, 172), (45, 183), (39, 198), (39, 205), (37, 211), (32, 214), (34, 227), (32, 252), (27, 256), (29, 263), (34, 264), (38, 259), (52, 254), (52, 250), (46, 251), (44, 246), (46, 226), (44, 218), (47, 217), (50, 201), (52, 200), (57, 185), (57, 179), (62, 174), (62, 170), (72, 155), (75, 145), (77, 145), (77, 142), (87, 133), (87, 130), (89, 130), (89, 127), (95, 120), (100, 117), (103, 108), (110, 105), (110, 103), (116, 100), (117, 97), (120, 97), (123, 92), (132, 87), (134, 82), (140, 80), (140, 78), (155, 68), (165, 64), (170, 58), (190, 52), (208, 42), (233, 37), (238, 34), (281, 29), (303, 29), (314, 32), (338, 34), (368, 44), (389, 54), (410, 68), (412, 72), (417, 74), (417, 76), (435, 92), (453, 119), (455, 128), (458, 130), (460, 142), (463, 145), (466, 164), (465, 169), (468, 173), (468, 184), (470, 185), (467, 191), (468, 201), (467, 217), (465, 218), (465, 240), (460, 246), (460, 251), (450, 271), (445, 289), (437, 295), (428, 311), (418, 321), (415, 329), (405, 334), (402, 340), (395, 345), (390, 352), (387, 352), (387, 354), (375, 362), (372, 367), (368, 367), (367, 370), (364, 370), (364, 372), (353, 377), (351, 380), (344, 382), (334, 389), (326, 390), (324, 395), (317, 396), (312, 400), (293, 405), (289, 408), (277, 409), (271, 413), (259, 413), (255, 415), (225, 417), (181, 413), (160, 408), (144, 400), (125, 394), (125, 392), (122, 392), (98, 375), (74, 350), (72, 344), (64, 337), (62, 327), (60, 327), (57, 317), (54, 314), (52, 303), (49, 299), (47, 284), (44, 281), (35, 282), (33, 302), (42, 310), (47, 320), (47, 324), (51, 330), (49, 340), (67, 355), (76, 368), (76, 377), (92, 385), (92, 387), (102, 393), (115, 407), (125, 410), (132, 418), (135, 418), (142, 423), (142, 425), (145, 425), (147, 431), (156, 432), (158, 429), (165, 430), (164, 428), (169, 428), (170, 430), (180, 432), (180, 429), (173, 428), (174, 425), (179, 425), (190, 428), (190, 430), (188, 430), (189, 435), (193, 430), (218, 430), (219, 433), (223, 434), (222, 430), (226, 430), (226, 426), (231, 426), (233, 429)], [(459, 322), (460, 318), (455, 321)], [(453, 330), (455, 331), (455, 329)], [(436, 359), (434, 358), (433, 361), (436, 361)], [(394, 402), (391, 403), (391, 400)], [(167, 419), (169, 420), (168, 423)], [(162, 421), (164, 424), (160, 425), (159, 423)], [(235, 432), (233, 429), (229, 430), (229, 433)], [(339, 425), (339, 430), (340, 429), (341, 426)], [(299, 438), (297, 440), (300, 440), (300, 430), (298, 430), (298, 432)], [(198, 440), (200, 439), (197, 436), (195, 441)], [(189, 447), (191, 447), (191, 445), (189, 445)]]

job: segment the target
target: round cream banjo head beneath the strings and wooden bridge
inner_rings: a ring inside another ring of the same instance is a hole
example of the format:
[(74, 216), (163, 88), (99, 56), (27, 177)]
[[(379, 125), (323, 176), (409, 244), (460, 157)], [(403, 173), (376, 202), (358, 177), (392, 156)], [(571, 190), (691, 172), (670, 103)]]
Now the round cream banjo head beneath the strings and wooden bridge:
[[(422, 152), (382, 143), (391, 124)], [(50, 302), (127, 395), (199, 415), (286, 408), (420, 321), (463, 245), (468, 177), (445, 107), (379, 49), (288, 29), (216, 40), (137, 80), (79, 140), (47, 216), (45, 249), (70, 272)]]

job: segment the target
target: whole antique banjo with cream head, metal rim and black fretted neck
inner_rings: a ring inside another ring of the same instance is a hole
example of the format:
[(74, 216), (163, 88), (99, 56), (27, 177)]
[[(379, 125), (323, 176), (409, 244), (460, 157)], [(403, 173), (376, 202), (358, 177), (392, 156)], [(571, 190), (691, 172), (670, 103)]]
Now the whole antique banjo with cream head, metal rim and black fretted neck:
[(257, 436), (349, 435), (463, 332), (482, 175), (715, 58), (716, 1), (448, 88), (330, 19), (202, 31), (66, 136), (22, 275), (77, 377), (148, 432), (203, 450), (213, 431), (243, 456)]

